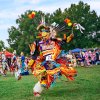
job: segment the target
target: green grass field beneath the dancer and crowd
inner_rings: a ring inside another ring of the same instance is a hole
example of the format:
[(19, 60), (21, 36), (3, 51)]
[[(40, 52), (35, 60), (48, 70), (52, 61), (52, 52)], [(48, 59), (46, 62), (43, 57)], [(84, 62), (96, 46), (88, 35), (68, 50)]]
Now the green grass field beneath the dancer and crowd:
[(0, 100), (100, 100), (100, 66), (77, 70), (75, 81), (68, 82), (62, 77), (39, 98), (33, 96), (37, 82), (33, 75), (23, 76), (19, 81), (10, 74), (0, 76)]

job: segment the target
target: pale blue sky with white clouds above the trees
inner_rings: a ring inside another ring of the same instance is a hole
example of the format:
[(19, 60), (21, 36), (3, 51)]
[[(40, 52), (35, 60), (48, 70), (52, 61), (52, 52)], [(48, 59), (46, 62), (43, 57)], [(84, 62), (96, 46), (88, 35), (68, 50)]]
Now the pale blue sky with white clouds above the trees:
[[(69, 8), (72, 3), (78, 4), (80, 0), (0, 0), (0, 40), (7, 43), (8, 28), (17, 26), (16, 19), (26, 10), (41, 10), (44, 13), (52, 13), (56, 9)], [(100, 0), (82, 0), (90, 5), (100, 15)]]

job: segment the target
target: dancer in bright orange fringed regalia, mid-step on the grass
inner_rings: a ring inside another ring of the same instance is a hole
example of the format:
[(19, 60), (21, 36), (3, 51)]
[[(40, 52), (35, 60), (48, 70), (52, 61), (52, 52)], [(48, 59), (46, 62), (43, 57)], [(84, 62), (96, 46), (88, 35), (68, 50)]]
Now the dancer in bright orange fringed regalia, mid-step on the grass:
[[(28, 65), (31, 67), (33, 75), (39, 80), (33, 88), (35, 96), (40, 96), (43, 89), (53, 86), (60, 76), (64, 75), (68, 80), (74, 80), (74, 76), (77, 75), (77, 71), (68, 66), (66, 59), (60, 57), (62, 45), (69, 43), (74, 34), (72, 33), (68, 37), (64, 34), (63, 38), (58, 38), (55, 30), (57, 28), (53, 25), (46, 26), (43, 19), (37, 27), (39, 31), (37, 38), (40, 40), (29, 45), (33, 59), (29, 61)], [(73, 28), (68, 18), (65, 22)], [(58, 25), (56, 26), (58, 27)]]

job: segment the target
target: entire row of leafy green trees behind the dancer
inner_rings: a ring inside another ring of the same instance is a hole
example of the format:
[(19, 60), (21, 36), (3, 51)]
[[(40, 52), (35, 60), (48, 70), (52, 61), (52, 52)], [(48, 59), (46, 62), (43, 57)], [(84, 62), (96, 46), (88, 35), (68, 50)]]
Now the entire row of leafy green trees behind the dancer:
[[(28, 18), (28, 14), (33, 10), (27, 10), (16, 19), (18, 27), (11, 26), (8, 29), (9, 39), (8, 44), (13, 50), (16, 50), (18, 54), (25, 52), (29, 54), (29, 43), (32, 43), (38, 34), (37, 26), (40, 23), (41, 15), (45, 16), (45, 22), (52, 24), (56, 22), (61, 24), (66, 17), (70, 18), (73, 23), (80, 23), (84, 28), (84, 32), (80, 34), (80, 31), (74, 31), (74, 39), (69, 44), (64, 44), (64, 50), (70, 50), (74, 48), (91, 48), (99, 47), (100, 42), (100, 16), (90, 9), (90, 5), (80, 1), (78, 4), (71, 4), (69, 8), (62, 11), (60, 8), (53, 13), (43, 13), (42, 11), (35, 11), (36, 16), (33, 19)], [(59, 37), (62, 37), (62, 33), (67, 36), (69, 31), (62, 31), (58, 33)]]

